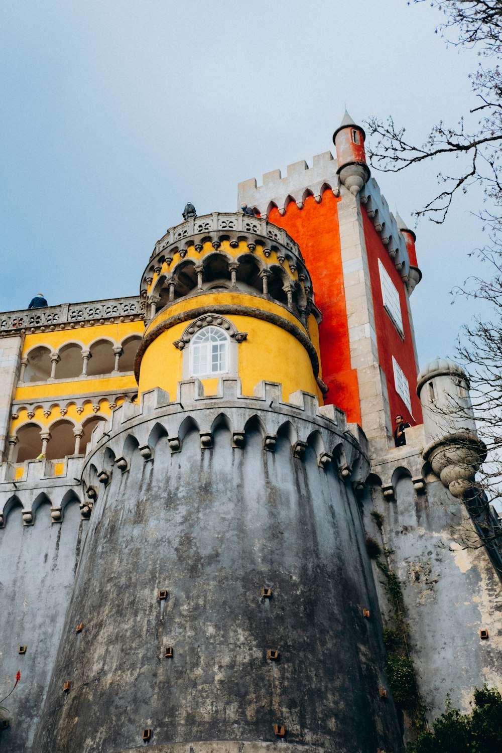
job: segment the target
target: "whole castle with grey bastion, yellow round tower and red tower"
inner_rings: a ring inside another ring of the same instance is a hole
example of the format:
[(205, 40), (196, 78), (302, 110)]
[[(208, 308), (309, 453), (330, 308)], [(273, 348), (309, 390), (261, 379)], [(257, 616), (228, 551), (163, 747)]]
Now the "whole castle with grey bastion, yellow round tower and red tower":
[(138, 297), (0, 315), (5, 753), (403, 751), (389, 573), (428, 718), (502, 687), (468, 378), (418, 367), (364, 139), (172, 227)]

